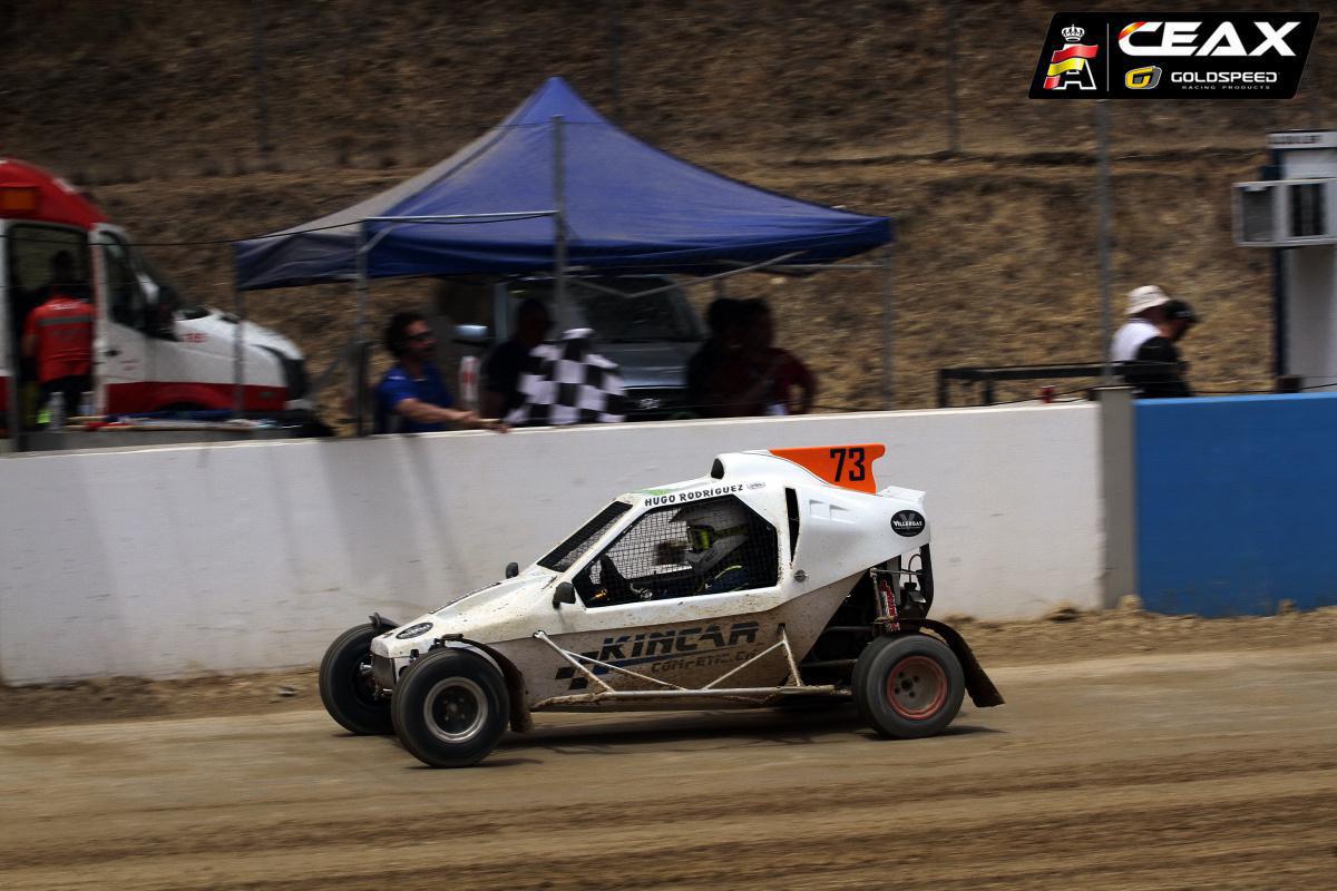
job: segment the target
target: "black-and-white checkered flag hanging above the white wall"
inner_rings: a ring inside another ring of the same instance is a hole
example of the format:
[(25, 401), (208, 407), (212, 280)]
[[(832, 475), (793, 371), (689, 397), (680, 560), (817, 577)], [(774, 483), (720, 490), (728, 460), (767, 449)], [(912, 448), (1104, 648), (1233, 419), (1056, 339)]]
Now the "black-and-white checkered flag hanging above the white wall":
[(572, 329), (529, 351), (520, 373), (524, 402), (505, 415), (512, 426), (606, 423), (626, 419), (626, 389), (616, 363), (590, 351), (591, 329)]

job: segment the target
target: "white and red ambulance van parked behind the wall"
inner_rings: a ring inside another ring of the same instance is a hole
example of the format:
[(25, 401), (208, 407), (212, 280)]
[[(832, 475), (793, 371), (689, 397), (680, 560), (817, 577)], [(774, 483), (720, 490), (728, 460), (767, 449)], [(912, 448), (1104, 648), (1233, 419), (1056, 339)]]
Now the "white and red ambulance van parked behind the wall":
[[(0, 426), (32, 421), (33, 371), (19, 343), (27, 314), (57, 286), (95, 307), (95, 413), (234, 407), (238, 319), (183, 306), (126, 232), (72, 186), (0, 158)], [(247, 411), (310, 409), (302, 353), (250, 322), (242, 382)], [(12, 393), (24, 397), (11, 405)]]

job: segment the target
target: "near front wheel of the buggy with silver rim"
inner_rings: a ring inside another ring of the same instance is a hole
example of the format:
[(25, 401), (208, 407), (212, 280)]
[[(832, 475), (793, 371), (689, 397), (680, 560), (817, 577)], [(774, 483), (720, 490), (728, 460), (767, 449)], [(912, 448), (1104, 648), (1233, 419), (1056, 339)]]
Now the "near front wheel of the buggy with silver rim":
[(469, 767), (496, 748), (511, 713), (505, 680), (463, 649), (422, 656), (400, 676), (390, 704), (394, 732), (431, 767)]

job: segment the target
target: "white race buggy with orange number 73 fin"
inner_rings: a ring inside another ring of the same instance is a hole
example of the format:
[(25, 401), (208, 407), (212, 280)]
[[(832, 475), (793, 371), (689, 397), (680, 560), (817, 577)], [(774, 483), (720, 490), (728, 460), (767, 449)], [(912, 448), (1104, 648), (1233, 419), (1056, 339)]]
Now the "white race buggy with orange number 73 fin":
[(924, 493), (877, 490), (881, 445), (742, 452), (620, 496), (505, 581), (330, 644), (321, 700), (435, 767), (475, 764), (540, 711), (853, 699), (931, 736), (1003, 697), (933, 601)]

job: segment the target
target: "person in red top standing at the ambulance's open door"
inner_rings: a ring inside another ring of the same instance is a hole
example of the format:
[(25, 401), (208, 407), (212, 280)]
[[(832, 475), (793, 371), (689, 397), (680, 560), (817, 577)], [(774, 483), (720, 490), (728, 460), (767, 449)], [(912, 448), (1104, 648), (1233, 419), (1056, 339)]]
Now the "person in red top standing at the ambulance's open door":
[(92, 307), (60, 293), (28, 313), (23, 354), (37, 363), (41, 401), (59, 393), (66, 417), (79, 413), (79, 399), (92, 389)]

